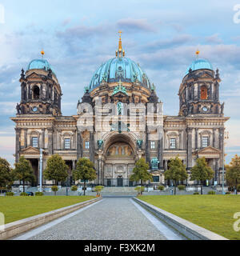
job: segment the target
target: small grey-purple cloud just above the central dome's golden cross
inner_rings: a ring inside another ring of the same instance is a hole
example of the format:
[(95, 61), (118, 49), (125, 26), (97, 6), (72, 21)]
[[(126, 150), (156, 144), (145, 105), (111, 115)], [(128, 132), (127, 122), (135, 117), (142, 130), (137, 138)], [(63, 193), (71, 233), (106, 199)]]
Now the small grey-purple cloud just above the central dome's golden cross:
[(118, 20), (117, 26), (122, 30), (127, 31), (144, 31), (155, 32), (156, 28), (147, 21), (146, 18), (122, 18)]

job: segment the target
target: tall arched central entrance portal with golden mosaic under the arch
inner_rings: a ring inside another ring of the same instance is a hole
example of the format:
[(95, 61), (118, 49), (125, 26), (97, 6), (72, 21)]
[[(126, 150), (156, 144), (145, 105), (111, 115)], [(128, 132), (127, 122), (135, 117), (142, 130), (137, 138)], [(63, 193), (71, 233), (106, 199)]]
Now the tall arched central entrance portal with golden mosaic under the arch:
[(114, 136), (105, 150), (104, 186), (134, 186), (130, 175), (134, 169), (133, 143), (125, 136)]

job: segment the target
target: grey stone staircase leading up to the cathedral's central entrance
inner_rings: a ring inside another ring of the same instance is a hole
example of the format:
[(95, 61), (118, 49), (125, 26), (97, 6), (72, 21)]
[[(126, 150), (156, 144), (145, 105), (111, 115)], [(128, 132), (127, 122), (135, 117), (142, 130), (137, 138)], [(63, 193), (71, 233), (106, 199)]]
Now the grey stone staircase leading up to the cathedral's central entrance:
[(138, 194), (131, 186), (106, 186), (101, 192), (102, 197), (133, 197)]

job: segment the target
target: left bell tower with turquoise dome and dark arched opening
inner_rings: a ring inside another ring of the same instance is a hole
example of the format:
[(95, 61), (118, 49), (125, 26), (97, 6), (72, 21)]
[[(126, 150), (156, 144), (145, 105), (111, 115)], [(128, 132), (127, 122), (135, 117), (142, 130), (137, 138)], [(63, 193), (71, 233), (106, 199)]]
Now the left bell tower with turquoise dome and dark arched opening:
[(17, 114), (61, 115), (62, 90), (49, 62), (43, 58), (30, 62), (26, 72), (22, 69), (21, 102)]

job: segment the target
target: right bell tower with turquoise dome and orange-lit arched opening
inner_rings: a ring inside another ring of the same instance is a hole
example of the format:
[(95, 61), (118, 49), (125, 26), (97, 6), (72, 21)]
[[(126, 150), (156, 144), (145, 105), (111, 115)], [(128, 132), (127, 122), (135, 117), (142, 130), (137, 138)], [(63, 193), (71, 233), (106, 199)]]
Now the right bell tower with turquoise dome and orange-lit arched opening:
[(196, 59), (186, 70), (186, 75), (178, 92), (179, 115), (214, 114), (222, 116), (224, 103), (219, 102), (218, 69), (214, 72), (212, 65), (206, 59)]

